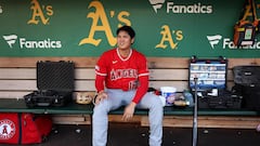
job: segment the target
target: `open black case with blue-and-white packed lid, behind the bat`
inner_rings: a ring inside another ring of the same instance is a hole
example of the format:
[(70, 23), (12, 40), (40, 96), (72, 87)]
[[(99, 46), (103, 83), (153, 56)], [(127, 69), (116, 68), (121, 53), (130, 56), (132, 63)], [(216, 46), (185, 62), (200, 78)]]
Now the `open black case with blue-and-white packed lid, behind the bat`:
[(195, 91), (194, 78), (197, 78), (198, 108), (240, 108), (242, 96), (226, 90), (227, 59), (190, 59), (188, 85)]

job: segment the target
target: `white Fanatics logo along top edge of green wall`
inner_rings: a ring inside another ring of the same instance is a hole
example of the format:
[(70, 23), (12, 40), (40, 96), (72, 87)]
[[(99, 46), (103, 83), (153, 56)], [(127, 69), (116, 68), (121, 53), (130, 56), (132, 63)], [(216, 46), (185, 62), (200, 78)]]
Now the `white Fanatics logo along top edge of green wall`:
[(213, 13), (213, 6), (203, 4), (200, 2), (194, 4), (180, 4), (173, 1), (165, 0), (148, 0), (151, 5), (154, 8), (155, 13), (158, 12), (164, 5), (166, 5), (167, 13), (173, 14), (211, 14)]

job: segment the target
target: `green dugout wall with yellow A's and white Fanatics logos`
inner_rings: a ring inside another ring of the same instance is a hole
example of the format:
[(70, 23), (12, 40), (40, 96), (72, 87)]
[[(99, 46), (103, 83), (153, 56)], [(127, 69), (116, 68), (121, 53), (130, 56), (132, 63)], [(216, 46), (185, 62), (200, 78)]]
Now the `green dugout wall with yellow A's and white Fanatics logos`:
[(0, 0), (0, 56), (99, 56), (116, 47), (119, 26), (131, 25), (133, 47), (147, 56), (259, 57), (260, 41), (233, 44), (243, 6), (244, 0)]

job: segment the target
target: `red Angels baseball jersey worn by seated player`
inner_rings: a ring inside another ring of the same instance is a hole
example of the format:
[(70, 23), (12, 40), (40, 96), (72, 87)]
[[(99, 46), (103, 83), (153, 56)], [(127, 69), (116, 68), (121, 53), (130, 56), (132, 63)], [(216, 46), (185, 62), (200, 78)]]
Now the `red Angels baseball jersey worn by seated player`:
[(148, 68), (146, 57), (130, 50), (127, 58), (122, 58), (118, 49), (106, 51), (95, 66), (95, 87), (98, 91), (107, 89), (121, 89), (123, 91), (138, 89), (134, 103), (139, 103), (148, 88)]

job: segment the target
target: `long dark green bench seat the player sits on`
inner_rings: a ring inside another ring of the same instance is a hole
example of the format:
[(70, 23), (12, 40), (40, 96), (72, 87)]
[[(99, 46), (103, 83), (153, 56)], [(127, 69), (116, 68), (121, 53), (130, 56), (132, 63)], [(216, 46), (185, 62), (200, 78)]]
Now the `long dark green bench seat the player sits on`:
[[(0, 98), (0, 112), (32, 112), (32, 114), (61, 114), (61, 115), (92, 115), (93, 105), (80, 105), (75, 102), (63, 107), (34, 107), (26, 106), (25, 101), (20, 98)], [(109, 115), (122, 115), (123, 107), (113, 110)], [(134, 115), (147, 115), (146, 109), (136, 109)], [(165, 116), (192, 116), (193, 108), (164, 108)], [(260, 111), (248, 109), (198, 109), (198, 116), (260, 116)]]

